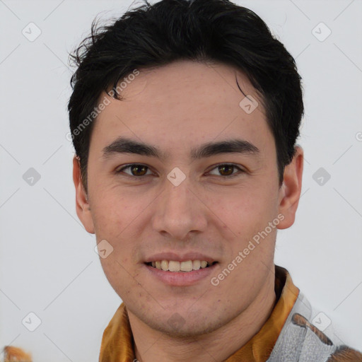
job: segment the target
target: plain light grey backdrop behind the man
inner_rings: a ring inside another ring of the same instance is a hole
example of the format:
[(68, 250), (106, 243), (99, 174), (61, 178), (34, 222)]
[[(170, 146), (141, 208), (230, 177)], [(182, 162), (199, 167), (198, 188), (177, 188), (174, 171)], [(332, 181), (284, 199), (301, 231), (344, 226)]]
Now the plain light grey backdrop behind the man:
[[(98, 13), (119, 16), (131, 3), (0, 0), (0, 347), (21, 346), (37, 362), (98, 361), (120, 303), (75, 212), (67, 57)], [(237, 4), (284, 42), (305, 88), (303, 195), (296, 223), (278, 233), (276, 264), (322, 323), (333, 321), (325, 332), (362, 349), (362, 2)], [(30, 22), (42, 32), (33, 42), (22, 33)], [(332, 31), (324, 41), (321, 22)], [(33, 186), (29, 168), (41, 175)], [(319, 168), (331, 175), (324, 185), (313, 179)], [(31, 312), (41, 320), (34, 332), (22, 324), (35, 323)]]

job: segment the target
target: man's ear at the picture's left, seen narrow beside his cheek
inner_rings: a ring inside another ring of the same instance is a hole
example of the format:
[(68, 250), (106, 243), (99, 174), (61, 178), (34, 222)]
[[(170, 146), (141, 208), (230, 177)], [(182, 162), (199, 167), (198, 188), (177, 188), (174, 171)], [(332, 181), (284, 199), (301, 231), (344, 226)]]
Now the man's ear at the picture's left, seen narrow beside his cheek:
[(77, 156), (73, 158), (73, 181), (76, 187), (76, 214), (88, 233), (94, 234), (94, 224), (88, 196), (81, 180), (81, 164)]

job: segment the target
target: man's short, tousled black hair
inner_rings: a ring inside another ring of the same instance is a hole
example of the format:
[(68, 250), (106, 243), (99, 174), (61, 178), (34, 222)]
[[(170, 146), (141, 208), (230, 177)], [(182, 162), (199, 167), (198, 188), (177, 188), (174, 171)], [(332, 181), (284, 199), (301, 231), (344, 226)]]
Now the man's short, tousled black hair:
[[(134, 69), (178, 59), (221, 62), (250, 79), (274, 135), (281, 185), (284, 168), (295, 154), (304, 112), (301, 78), (291, 54), (250, 9), (228, 0), (163, 0), (153, 5), (144, 0), (111, 25), (97, 26), (95, 19), (91, 35), (70, 58), (78, 66), (71, 77), (68, 105), (71, 137), (86, 190), (94, 123), (89, 115), (102, 91), (115, 89)], [(119, 99), (117, 93), (115, 98)]]

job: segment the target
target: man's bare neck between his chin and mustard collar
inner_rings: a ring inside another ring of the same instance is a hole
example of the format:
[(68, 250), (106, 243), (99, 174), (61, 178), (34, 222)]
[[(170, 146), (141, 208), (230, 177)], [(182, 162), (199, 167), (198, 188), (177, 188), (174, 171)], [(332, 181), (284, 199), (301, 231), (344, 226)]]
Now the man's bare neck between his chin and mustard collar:
[(249, 307), (226, 325), (208, 334), (188, 339), (169, 337), (144, 324), (128, 311), (137, 360), (139, 362), (178, 362), (195, 359), (198, 362), (225, 361), (259, 332), (271, 314), (276, 300), (274, 274), (270, 274), (264, 286), (265, 288)]

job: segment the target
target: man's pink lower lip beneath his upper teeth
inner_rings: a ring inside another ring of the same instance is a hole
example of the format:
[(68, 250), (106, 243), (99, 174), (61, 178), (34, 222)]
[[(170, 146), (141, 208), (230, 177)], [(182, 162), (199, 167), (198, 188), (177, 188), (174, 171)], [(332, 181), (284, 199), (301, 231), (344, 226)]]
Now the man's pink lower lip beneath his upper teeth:
[(192, 271), (164, 271), (144, 264), (148, 271), (169, 286), (192, 286), (213, 273), (216, 265)]

